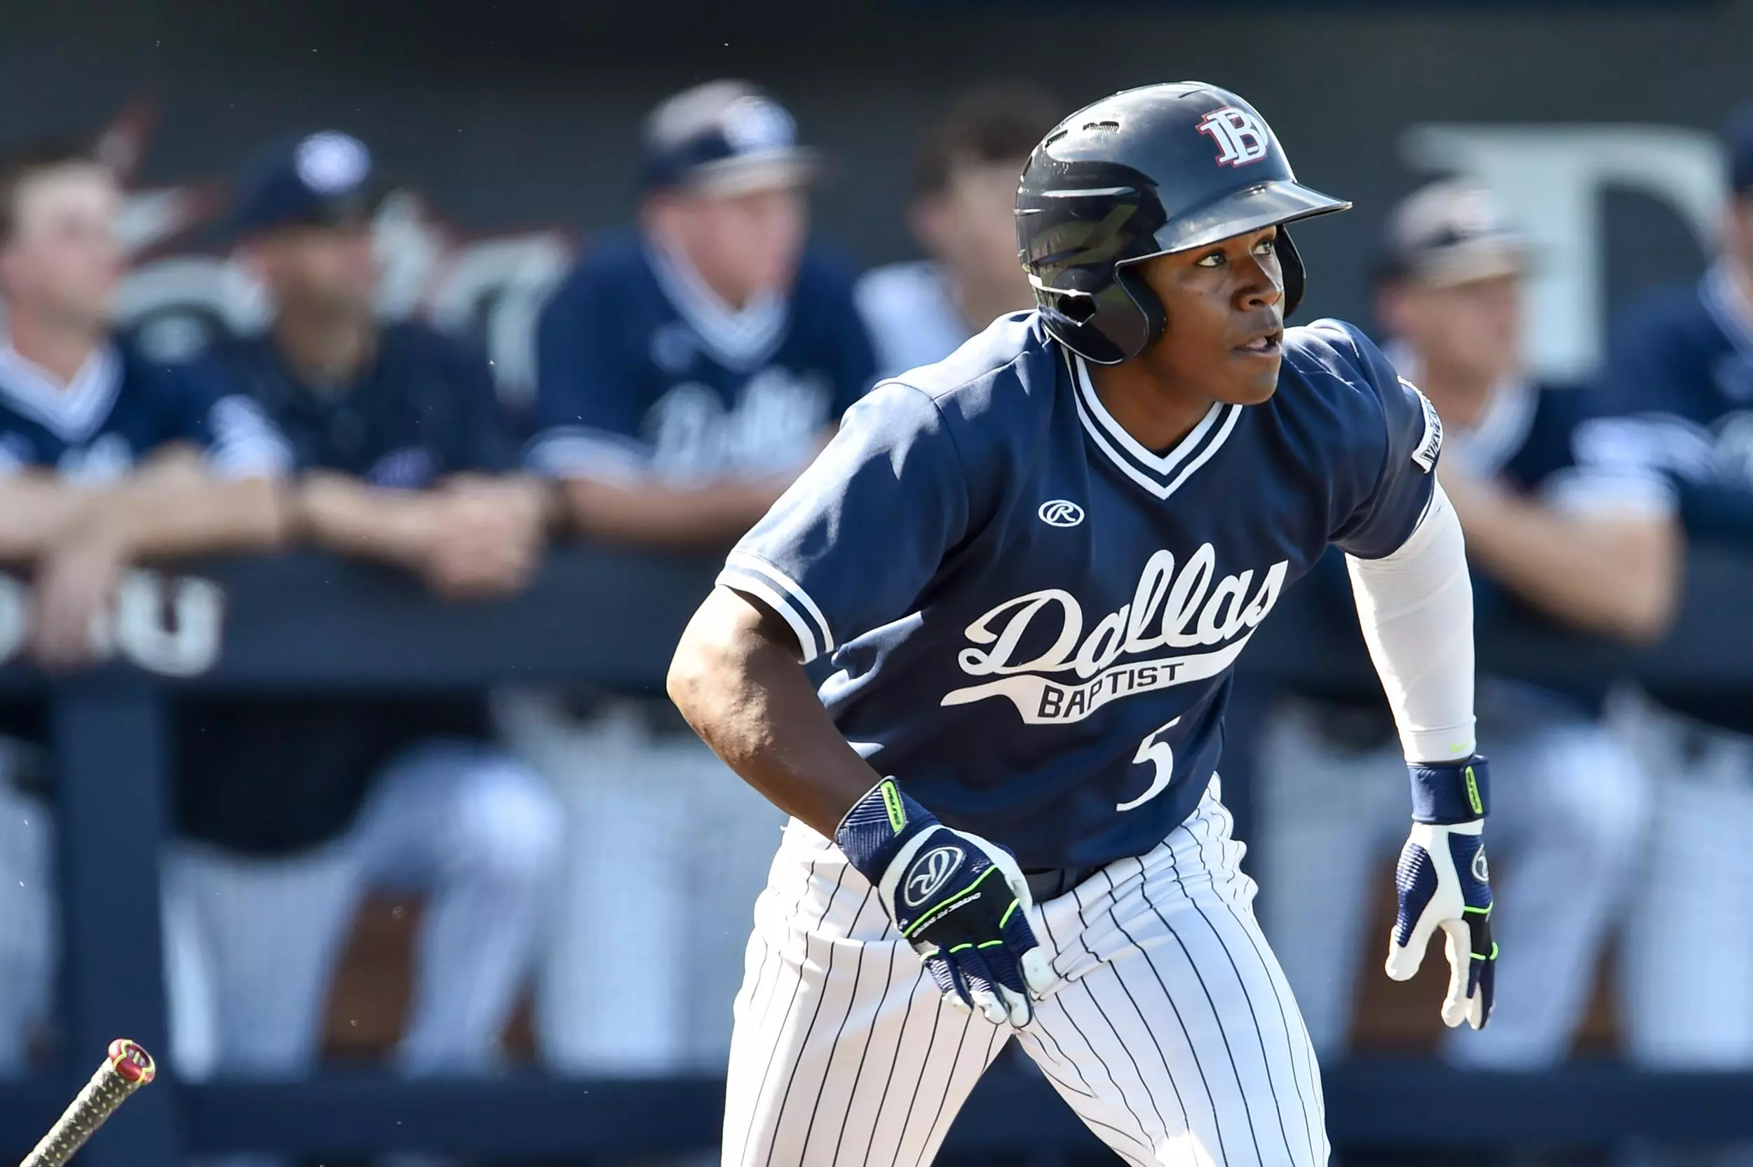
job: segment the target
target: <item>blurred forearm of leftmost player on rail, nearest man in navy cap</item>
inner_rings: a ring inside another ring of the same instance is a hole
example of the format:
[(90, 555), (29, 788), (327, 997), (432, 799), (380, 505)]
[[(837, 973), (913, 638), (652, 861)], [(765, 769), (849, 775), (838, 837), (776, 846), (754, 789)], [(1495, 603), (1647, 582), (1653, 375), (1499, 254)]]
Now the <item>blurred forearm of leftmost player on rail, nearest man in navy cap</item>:
[(165, 477), (130, 482), (86, 506), (60, 540), (112, 540), (130, 559), (270, 550), (291, 529), (286, 487), (270, 478)]

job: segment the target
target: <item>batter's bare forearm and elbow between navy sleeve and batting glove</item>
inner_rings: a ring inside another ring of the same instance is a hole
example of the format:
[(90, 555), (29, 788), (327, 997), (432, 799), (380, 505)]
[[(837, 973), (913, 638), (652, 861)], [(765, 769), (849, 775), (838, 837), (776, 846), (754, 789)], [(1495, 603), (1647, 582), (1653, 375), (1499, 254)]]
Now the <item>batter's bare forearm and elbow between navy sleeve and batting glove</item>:
[(784, 620), (719, 587), (670, 662), (670, 699), (743, 782), (834, 838), (878, 774), (840, 736)]

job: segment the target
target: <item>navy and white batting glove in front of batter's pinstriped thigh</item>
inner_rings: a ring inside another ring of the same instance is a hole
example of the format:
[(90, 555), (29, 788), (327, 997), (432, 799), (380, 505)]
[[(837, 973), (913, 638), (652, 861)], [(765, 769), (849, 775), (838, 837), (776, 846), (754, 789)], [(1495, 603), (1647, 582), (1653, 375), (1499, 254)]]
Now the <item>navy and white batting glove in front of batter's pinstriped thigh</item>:
[(1054, 969), (1029, 927), (1029, 885), (1010, 852), (950, 831), (892, 778), (852, 804), (834, 841), (950, 1004), (980, 1009), (994, 1025), (1029, 1023), (1029, 994), (1045, 994)]

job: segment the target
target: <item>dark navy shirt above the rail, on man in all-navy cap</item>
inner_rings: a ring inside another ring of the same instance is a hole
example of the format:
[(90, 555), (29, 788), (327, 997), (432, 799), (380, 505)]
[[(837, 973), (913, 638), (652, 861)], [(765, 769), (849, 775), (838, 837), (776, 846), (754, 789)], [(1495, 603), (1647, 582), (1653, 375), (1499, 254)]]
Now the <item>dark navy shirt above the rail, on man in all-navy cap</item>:
[(445, 475), (517, 468), (487, 357), (419, 321), (386, 324), (370, 368), (349, 384), (309, 384), (272, 335), (216, 345), (212, 359), (280, 426), (300, 470), (424, 489)]

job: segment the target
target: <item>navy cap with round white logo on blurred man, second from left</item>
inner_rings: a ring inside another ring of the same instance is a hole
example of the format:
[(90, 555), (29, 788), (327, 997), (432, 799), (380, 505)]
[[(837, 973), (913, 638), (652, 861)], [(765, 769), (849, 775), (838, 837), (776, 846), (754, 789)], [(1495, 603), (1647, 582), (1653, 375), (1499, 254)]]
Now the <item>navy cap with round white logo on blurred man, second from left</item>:
[(380, 196), (365, 142), (324, 130), (277, 142), (244, 166), (231, 226), (238, 235), (284, 226), (349, 226), (370, 221)]

